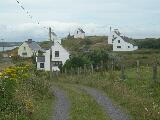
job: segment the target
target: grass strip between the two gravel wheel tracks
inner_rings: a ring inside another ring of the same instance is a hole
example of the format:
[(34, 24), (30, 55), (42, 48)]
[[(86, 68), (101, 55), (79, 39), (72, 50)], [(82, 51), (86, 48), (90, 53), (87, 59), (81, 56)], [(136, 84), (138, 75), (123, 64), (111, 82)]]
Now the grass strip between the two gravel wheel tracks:
[(103, 109), (88, 94), (69, 84), (58, 84), (71, 100), (70, 120), (109, 120)]

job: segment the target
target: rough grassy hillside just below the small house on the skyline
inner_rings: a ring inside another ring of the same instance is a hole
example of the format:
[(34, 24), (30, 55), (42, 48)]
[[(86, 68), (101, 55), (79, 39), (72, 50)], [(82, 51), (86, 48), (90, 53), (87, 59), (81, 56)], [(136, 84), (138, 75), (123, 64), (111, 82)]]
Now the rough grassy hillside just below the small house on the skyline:
[(85, 52), (98, 49), (112, 50), (107, 36), (87, 36), (85, 39), (64, 38), (62, 45), (71, 52)]

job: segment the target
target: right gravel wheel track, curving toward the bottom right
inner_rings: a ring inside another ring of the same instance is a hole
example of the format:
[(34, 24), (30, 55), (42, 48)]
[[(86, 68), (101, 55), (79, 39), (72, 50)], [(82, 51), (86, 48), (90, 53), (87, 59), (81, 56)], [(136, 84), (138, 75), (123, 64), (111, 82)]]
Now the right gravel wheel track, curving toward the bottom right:
[(81, 87), (81, 89), (91, 95), (97, 103), (104, 108), (106, 114), (109, 115), (112, 120), (130, 120), (129, 116), (120, 110), (119, 107), (114, 106), (112, 101), (104, 95), (103, 92), (84, 86)]

